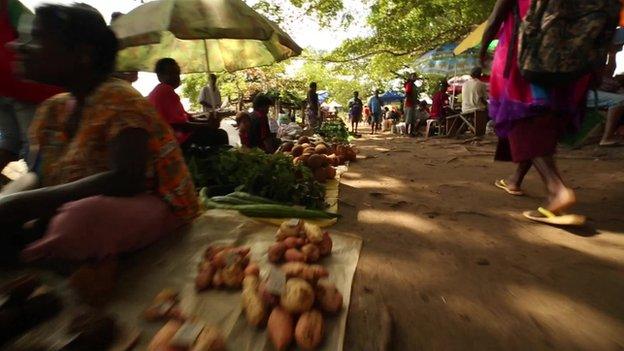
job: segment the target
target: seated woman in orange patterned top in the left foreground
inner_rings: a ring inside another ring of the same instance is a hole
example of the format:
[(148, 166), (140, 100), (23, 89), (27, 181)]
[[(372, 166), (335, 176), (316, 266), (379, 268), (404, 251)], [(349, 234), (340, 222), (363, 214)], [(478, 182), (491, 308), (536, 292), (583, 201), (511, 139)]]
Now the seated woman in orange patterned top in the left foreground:
[[(0, 195), (3, 258), (24, 247), (25, 260), (104, 258), (196, 216), (171, 129), (139, 92), (110, 78), (118, 44), (97, 11), (43, 5), (31, 40), (13, 47), (25, 78), (69, 93), (46, 100), (31, 126), (38, 187)], [(32, 220), (40, 232), (27, 238), (24, 223)]]

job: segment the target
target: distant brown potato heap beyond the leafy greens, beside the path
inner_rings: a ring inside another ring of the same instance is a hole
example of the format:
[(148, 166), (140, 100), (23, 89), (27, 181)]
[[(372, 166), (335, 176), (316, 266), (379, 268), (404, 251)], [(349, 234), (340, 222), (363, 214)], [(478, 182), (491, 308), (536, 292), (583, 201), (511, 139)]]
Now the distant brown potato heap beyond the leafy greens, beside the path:
[(314, 143), (302, 136), (297, 142), (287, 141), (280, 151), (292, 155), (295, 165), (303, 164), (314, 173), (314, 179), (325, 182), (336, 177), (336, 169), (347, 161), (355, 161), (356, 152), (348, 145)]

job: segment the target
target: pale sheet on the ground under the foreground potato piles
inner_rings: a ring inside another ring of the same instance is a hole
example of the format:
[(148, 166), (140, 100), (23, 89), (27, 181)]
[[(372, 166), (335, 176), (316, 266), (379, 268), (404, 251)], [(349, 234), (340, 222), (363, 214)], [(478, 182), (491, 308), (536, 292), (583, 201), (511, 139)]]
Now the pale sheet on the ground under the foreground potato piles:
[[(273, 348), (267, 342), (266, 331), (249, 326), (245, 321), (240, 291), (209, 290), (197, 294), (194, 279), (202, 253), (211, 243), (250, 246), (252, 260), (259, 263), (261, 274), (266, 274), (271, 266), (266, 252), (275, 241), (275, 231), (273, 226), (233, 211), (208, 211), (194, 223), (189, 233), (135, 256), (131, 268), (122, 274), (117, 289), (119, 296), (110, 309), (126, 320), (137, 320), (153, 296), (164, 288), (173, 288), (181, 293), (184, 312), (221, 328), (228, 350), (270, 351)], [(353, 274), (362, 245), (361, 239), (353, 236), (332, 232), (332, 238), (333, 253), (321, 264), (329, 270), (330, 279), (344, 295), (346, 308), (339, 315), (326, 318), (326, 338), (320, 350), (342, 350)], [(143, 350), (162, 324), (138, 323), (144, 333), (137, 349)]]

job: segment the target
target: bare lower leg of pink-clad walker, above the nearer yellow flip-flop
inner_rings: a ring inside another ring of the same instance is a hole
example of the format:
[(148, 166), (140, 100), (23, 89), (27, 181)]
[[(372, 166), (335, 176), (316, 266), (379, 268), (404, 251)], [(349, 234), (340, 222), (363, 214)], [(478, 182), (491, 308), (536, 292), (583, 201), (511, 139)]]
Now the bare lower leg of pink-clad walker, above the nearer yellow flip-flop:
[(533, 165), (548, 191), (548, 204), (545, 206), (547, 210), (561, 213), (576, 203), (576, 195), (564, 184), (552, 155), (533, 159)]

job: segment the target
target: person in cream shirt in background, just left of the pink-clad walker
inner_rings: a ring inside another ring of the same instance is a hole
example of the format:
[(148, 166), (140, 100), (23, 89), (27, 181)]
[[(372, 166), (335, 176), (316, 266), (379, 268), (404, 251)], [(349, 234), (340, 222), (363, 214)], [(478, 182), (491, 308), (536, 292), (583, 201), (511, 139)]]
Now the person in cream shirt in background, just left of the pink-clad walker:
[(481, 67), (475, 67), (470, 73), (470, 79), (462, 87), (462, 114), (475, 114), (475, 128), (477, 135), (485, 134), (487, 123), (487, 86), (480, 79), (483, 75)]

